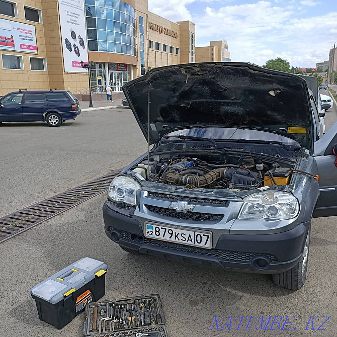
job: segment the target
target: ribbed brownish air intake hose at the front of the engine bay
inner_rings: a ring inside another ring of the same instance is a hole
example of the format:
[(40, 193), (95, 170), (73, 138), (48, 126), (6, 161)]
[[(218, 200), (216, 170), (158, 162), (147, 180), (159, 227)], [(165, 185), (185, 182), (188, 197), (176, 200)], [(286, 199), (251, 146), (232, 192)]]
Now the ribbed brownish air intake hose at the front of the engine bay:
[(204, 176), (185, 176), (174, 173), (167, 173), (164, 180), (167, 183), (175, 185), (194, 185), (195, 187), (210, 187), (219, 178), (225, 177), (226, 168), (217, 168), (216, 170), (206, 173)]

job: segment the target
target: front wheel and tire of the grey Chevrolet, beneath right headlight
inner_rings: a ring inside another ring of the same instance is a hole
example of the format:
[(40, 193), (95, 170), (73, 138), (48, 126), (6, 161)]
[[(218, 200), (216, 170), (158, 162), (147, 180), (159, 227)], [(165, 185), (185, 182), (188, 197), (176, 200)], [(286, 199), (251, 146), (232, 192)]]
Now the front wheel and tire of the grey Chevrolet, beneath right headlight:
[(307, 277), (309, 244), (310, 227), (302, 250), (302, 258), (300, 259), (298, 264), (284, 273), (272, 274), (273, 282), (277, 286), (290, 290), (299, 290), (303, 287)]

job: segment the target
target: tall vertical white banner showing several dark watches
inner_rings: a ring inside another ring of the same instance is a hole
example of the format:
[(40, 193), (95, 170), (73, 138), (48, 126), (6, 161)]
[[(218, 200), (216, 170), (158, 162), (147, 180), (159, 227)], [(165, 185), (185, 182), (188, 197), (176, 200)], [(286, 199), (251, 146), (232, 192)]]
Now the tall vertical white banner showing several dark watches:
[(64, 71), (88, 72), (80, 62), (88, 63), (86, 16), (83, 0), (58, 0)]

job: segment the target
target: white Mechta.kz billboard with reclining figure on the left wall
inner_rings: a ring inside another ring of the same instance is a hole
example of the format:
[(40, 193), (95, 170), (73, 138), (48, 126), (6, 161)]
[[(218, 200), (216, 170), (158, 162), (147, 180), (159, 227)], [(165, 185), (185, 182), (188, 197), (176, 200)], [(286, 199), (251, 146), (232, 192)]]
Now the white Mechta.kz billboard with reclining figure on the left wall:
[(0, 49), (37, 53), (35, 27), (0, 19)]

